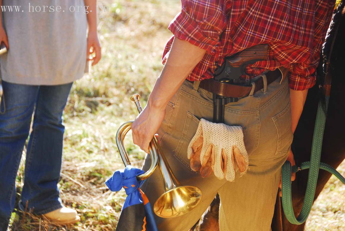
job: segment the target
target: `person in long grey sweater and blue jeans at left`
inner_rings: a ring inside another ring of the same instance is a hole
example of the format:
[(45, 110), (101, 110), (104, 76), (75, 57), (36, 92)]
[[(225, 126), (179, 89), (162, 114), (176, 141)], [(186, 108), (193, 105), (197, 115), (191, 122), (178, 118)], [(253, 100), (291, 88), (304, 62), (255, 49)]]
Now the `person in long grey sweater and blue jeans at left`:
[(7, 229), (14, 208), (15, 180), (28, 136), (19, 208), (63, 224), (77, 222), (77, 212), (62, 205), (57, 187), (65, 129), (62, 112), (87, 59), (95, 65), (101, 58), (96, 0), (0, 4), (0, 41), (8, 48), (0, 57), (0, 230)]

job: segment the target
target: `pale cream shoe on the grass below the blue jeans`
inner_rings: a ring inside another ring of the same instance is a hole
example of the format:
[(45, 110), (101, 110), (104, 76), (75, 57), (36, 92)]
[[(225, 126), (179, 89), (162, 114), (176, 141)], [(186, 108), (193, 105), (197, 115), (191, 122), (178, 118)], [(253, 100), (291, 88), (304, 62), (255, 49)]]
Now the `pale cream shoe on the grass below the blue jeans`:
[(52, 222), (60, 224), (72, 224), (80, 221), (77, 211), (66, 207), (43, 214), (43, 216)]

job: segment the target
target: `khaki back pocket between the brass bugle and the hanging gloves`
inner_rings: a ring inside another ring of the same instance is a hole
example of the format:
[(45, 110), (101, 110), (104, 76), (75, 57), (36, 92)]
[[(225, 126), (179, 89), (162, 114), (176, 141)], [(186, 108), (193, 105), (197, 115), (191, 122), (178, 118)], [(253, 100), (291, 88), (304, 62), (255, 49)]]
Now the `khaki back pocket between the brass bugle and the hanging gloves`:
[(200, 121), (198, 118), (196, 118), (192, 113), (187, 111), (187, 116), (186, 116), (185, 124), (183, 127), (182, 137), (179, 140), (177, 144), (177, 148), (174, 153), (175, 157), (181, 163), (183, 163), (186, 166), (186, 168), (188, 168), (190, 171), (192, 170), (189, 165), (190, 161), (187, 158), (187, 148), (188, 148), (189, 142), (195, 135), (199, 122)]

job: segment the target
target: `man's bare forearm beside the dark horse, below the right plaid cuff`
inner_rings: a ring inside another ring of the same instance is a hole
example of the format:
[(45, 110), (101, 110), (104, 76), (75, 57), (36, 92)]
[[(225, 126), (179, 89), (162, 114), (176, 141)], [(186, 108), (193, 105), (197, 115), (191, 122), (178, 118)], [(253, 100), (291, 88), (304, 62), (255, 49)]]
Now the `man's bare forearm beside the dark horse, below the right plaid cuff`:
[(305, 100), (307, 98), (308, 89), (303, 91), (295, 91), (290, 89), (291, 99), (291, 128), (295, 132), (299, 117), (302, 114)]

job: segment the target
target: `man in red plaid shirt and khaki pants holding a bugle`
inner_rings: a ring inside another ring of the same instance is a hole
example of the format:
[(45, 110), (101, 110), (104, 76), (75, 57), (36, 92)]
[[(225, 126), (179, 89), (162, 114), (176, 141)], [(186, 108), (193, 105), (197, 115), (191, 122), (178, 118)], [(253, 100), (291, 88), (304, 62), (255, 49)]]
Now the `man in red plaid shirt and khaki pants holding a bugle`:
[[(220, 230), (269, 230), (285, 160), (294, 162), (290, 145), (302, 113), (335, 1), (328, 0), (182, 0), (169, 25), (174, 36), (163, 54), (163, 68), (145, 109), (132, 124), (133, 141), (148, 152), (157, 132), (167, 160), (183, 185), (203, 192), (196, 209), (177, 218), (156, 217), (159, 230), (188, 230), (216, 193), (220, 196)], [(266, 60), (246, 67), (246, 76), (285, 67), (280, 78), (238, 102), (225, 105), (225, 124), (244, 128), (249, 170), (234, 182), (194, 172), (188, 144), (199, 120), (213, 120), (213, 93), (198, 88), (212, 78), (216, 65), (257, 44), (268, 44)], [(186, 81), (186, 79), (188, 81)], [(144, 170), (150, 164), (145, 161)], [(156, 171), (142, 186), (150, 201), (162, 193)], [(153, 204), (153, 203), (152, 203)]]

